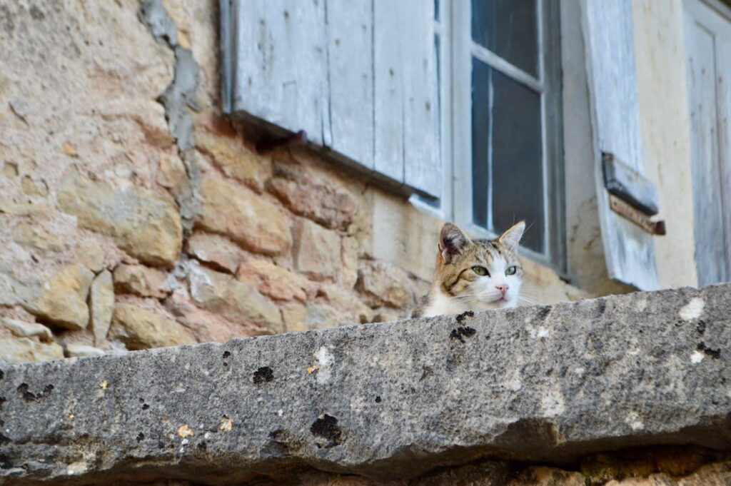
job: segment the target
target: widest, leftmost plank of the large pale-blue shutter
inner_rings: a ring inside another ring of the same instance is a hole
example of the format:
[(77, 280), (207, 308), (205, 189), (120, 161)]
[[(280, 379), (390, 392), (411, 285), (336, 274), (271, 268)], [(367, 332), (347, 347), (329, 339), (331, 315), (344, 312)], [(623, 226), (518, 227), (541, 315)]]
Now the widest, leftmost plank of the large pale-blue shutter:
[(291, 132), (304, 129), (322, 144), (323, 127), (329, 132), (324, 1), (235, 0), (232, 7), (232, 109)]

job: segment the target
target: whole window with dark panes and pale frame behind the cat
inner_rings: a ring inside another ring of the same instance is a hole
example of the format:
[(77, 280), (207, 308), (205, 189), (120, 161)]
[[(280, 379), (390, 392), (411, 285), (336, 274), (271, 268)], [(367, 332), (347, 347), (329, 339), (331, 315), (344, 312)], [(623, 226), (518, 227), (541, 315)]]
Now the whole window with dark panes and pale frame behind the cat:
[(428, 205), (485, 238), (525, 219), (523, 251), (563, 270), (558, 2), (434, 5), (445, 183)]

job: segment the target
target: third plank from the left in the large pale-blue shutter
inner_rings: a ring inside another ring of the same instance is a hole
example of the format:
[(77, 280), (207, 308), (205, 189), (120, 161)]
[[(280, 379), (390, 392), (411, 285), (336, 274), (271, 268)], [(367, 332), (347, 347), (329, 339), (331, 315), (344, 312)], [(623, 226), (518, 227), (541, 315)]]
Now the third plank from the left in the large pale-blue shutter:
[(374, 169), (399, 182), (404, 182), (404, 12), (401, 0), (374, 0)]

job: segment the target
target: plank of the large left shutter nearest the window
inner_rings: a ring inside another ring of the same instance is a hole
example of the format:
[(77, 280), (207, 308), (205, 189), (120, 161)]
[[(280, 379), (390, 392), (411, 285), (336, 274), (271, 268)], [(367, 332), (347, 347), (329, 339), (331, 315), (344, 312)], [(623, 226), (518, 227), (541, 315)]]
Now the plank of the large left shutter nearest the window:
[(437, 151), (436, 56), (433, 1), (399, 0), (404, 15), (404, 182), (439, 197), (442, 167)]

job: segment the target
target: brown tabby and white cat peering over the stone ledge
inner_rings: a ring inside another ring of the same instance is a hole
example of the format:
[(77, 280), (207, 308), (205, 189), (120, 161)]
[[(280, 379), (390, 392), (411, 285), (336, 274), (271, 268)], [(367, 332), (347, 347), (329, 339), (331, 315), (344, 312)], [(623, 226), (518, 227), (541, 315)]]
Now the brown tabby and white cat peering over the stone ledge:
[(520, 221), (494, 240), (470, 240), (455, 224), (444, 224), (431, 291), (412, 317), (518, 305), (523, 266), (516, 250), (525, 230), (525, 222)]

